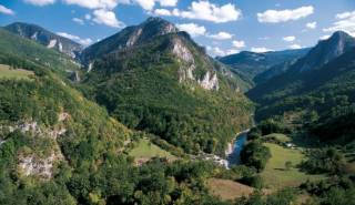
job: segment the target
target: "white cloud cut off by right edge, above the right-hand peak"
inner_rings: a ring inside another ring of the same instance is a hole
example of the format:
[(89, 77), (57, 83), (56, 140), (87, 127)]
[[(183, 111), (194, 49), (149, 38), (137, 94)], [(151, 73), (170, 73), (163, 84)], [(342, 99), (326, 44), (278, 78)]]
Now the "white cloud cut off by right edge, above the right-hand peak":
[(355, 11), (338, 13), (332, 27), (323, 29), (324, 32), (345, 31), (355, 37)]

